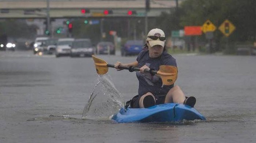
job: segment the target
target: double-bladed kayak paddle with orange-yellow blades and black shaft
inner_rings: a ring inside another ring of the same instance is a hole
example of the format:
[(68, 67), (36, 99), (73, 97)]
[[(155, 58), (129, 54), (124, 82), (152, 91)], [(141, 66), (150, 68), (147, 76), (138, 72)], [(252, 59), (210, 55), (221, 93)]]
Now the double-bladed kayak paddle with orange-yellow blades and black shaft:
[[(106, 74), (108, 72), (108, 67), (115, 68), (115, 65), (109, 64), (105, 62), (104, 60), (97, 58), (96, 56), (92, 55), (95, 67), (96, 67), (96, 72), (98, 74)], [(123, 67), (119, 66), (119, 69), (127, 69), (130, 72), (133, 71), (140, 71), (140, 68), (138, 67)], [(151, 75), (159, 75), (162, 79), (163, 85), (172, 85), (176, 79), (177, 79), (177, 74), (178, 74), (178, 69), (177, 67), (171, 66), (171, 65), (160, 65), (159, 70), (155, 71), (153, 69), (145, 69), (144, 72), (148, 72)]]

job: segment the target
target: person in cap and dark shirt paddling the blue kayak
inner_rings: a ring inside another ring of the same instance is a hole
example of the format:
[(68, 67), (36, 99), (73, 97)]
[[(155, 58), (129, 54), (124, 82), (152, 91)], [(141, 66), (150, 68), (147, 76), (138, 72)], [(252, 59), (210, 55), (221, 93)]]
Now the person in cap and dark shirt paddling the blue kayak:
[(160, 65), (177, 67), (176, 60), (166, 52), (165, 39), (165, 33), (161, 29), (152, 29), (147, 35), (143, 51), (139, 53), (135, 62), (115, 63), (117, 71), (122, 70), (119, 66), (140, 68), (140, 71), (136, 72), (139, 80), (138, 95), (128, 101), (131, 108), (148, 108), (163, 103), (183, 103), (194, 107), (196, 103), (195, 97), (186, 97), (178, 85), (163, 85), (159, 76), (144, 72), (145, 69), (158, 71)]

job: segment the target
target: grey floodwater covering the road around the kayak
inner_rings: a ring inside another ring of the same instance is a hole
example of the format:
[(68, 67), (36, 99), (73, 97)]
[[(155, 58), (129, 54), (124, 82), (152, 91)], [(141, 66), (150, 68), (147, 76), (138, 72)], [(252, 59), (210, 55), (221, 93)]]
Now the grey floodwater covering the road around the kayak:
[[(0, 52), (0, 143), (255, 143), (256, 56), (173, 56), (176, 84), (197, 98), (195, 109), (207, 121), (82, 119), (98, 81), (92, 58)], [(108, 63), (136, 59), (98, 57)], [(109, 76), (124, 101), (136, 95), (135, 73), (109, 69)]]

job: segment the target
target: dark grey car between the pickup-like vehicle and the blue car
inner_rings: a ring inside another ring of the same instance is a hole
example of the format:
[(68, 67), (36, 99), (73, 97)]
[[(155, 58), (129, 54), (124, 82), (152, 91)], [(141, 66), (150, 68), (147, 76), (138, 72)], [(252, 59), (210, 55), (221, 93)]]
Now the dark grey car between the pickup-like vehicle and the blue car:
[(97, 44), (96, 53), (115, 55), (115, 45), (112, 42), (100, 42)]

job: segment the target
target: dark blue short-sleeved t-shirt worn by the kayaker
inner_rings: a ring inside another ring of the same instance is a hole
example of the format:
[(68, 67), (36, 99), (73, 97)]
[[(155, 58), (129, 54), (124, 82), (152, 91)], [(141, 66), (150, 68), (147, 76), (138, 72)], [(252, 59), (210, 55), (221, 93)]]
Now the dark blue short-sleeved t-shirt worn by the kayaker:
[[(156, 71), (159, 70), (160, 65), (172, 65), (177, 67), (176, 60), (167, 52), (163, 52), (158, 58), (150, 58), (148, 50), (143, 50), (139, 53), (137, 61), (139, 63), (139, 68), (147, 65), (150, 69)], [(173, 88), (173, 84), (163, 85), (161, 78), (158, 76), (148, 77), (140, 72), (136, 72), (136, 76), (139, 80), (139, 96), (142, 96), (147, 92), (151, 92), (154, 96), (166, 95), (167, 92)]]

